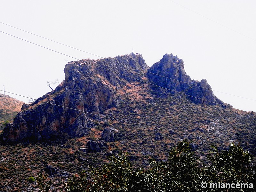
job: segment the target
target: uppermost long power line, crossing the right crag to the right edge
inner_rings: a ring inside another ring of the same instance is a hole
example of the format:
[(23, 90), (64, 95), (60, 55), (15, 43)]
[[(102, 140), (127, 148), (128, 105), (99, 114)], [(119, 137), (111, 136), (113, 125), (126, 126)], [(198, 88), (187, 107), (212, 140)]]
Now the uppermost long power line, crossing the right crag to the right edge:
[[(175, 3), (175, 2), (174, 2), (174, 3)], [(180, 6), (182, 6), (182, 5), (180, 5)], [(192, 10), (190, 10), (190, 11), (192, 11)], [(199, 14), (199, 15), (200, 15), (200, 14)], [(93, 54), (93, 53), (90, 53), (90, 52), (86, 52), (86, 51), (83, 51), (83, 50), (81, 50), (81, 49), (77, 49), (77, 48), (75, 48), (75, 47), (72, 47), (72, 46), (69, 46), (69, 45), (66, 45), (66, 44), (63, 44), (63, 43), (60, 43), (60, 42), (57, 42), (57, 41), (54, 41), (54, 40), (48, 39), (48, 38), (46, 38), (46, 37), (36, 35), (36, 34), (34, 34), (34, 33), (31, 33), (31, 32), (29, 32), (29, 31), (25, 31), (25, 30), (23, 30), (23, 29), (20, 29), (20, 28), (14, 27), (14, 26), (12, 26), (12, 25), (8, 25), (8, 24), (3, 23), (3, 22), (0, 22), (0, 23), (2, 23), (2, 24), (4, 24), (4, 25), (7, 25), (7, 26), (10, 26), (10, 27), (12, 27), (12, 28), (19, 29), (19, 30), (24, 31), (24, 32), (26, 32), (26, 33), (29, 33), (29, 34), (31, 34), (31, 35), (35, 35), (35, 36), (38, 36), (38, 37), (44, 38), (44, 39), (49, 40), (49, 41), (52, 41), (52, 42), (54, 42), (54, 43), (58, 43), (58, 44), (61, 44), (61, 45), (67, 46), (67, 47), (69, 47), (69, 48), (76, 49), (76, 50), (78, 50), (78, 51), (85, 52), (85, 53), (88, 53), (88, 54), (91, 54), (91, 55), (94, 55), (94, 56), (100, 57), (100, 58), (102, 58), (102, 59), (110, 60), (110, 61), (113, 61), (113, 62), (116, 62), (116, 63), (122, 64), (122, 65), (124, 65), (124, 66), (128, 66), (128, 67), (130, 67), (130, 68), (138, 69), (138, 70), (140, 70), (140, 71), (144, 71), (144, 72), (147, 72), (147, 73), (152, 74), (152, 75), (161, 76), (161, 77), (164, 77), (164, 78), (167, 78), (167, 79), (171, 79), (171, 80), (174, 80), (174, 81), (178, 81), (178, 82), (180, 82), (180, 83), (185, 83), (185, 84), (188, 84), (188, 85), (192, 85), (192, 86), (200, 87), (200, 88), (203, 88), (203, 89), (207, 89), (207, 90), (211, 90), (211, 91), (215, 91), (215, 92), (220, 92), (220, 91), (216, 91), (216, 90), (213, 90), (213, 89), (210, 89), (210, 88), (206, 88), (206, 87), (202, 87), (202, 86), (199, 86), (199, 85), (195, 85), (195, 84), (187, 83), (187, 82), (184, 82), (184, 81), (180, 81), (180, 80), (178, 80), (178, 79), (173, 79), (173, 78), (170, 78), (170, 77), (167, 77), (167, 76), (163, 76), (163, 75), (159, 75), (159, 74), (156, 74), (156, 73), (152, 73), (152, 72), (149, 72), (149, 71), (144, 70), (144, 69), (140, 69), (140, 68), (132, 67), (132, 66), (130, 66), (130, 65), (126, 65), (126, 64), (121, 63), (121, 62), (119, 62), (119, 61), (112, 60), (112, 59), (108, 59), (108, 58), (105, 58), (105, 57), (101, 57), (101, 56), (99, 56), (99, 55), (96, 55), (96, 54)], [(250, 98), (246, 98), (246, 97), (241, 97), (241, 96), (233, 95), (233, 94), (230, 94), (230, 93), (225, 93), (225, 92), (220, 92), (220, 93), (227, 94), (227, 95), (231, 95), (231, 96), (235, 96), (235, 97), (240, 97), (240, 98), (243, 98), (243, 99), (254, 100), (254, 99), (250, 99)], [(254, 101), (256, 101), (256, 100), (254, 100)]]

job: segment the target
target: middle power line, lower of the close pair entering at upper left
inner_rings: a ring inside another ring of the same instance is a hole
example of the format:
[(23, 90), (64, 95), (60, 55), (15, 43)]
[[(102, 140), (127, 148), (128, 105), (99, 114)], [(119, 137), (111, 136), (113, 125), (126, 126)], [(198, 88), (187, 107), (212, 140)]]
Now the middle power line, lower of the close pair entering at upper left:
[[(13, 35), (11, 35), (11, 34), (8, 34), (8, 33), (3, 32), (3, 31), (0, 31), (0, 32), (1, 32), (1, 33), (4, 33), (4, 34), (7, 34), (7, 35), (9, 35), (9, 36), (13, 36)], [(174, 90), (172, 90), (172, 89), (168, 89), (168, 88), (166, 88), (166, 87), (162, 87), (162, 86), (159, 86), (159, 85), (156, 85), (156, 84), (152, 84), (152, 83), (149, 83), (149, 82), (146, 82), (146, 81), (143, 81), (143, 80), (140, 80), (140, 79), (131, 77), (131, 76), (127, 76), (127, 75), (124, 75), (124, 74), (122, 74), (122, 73), (118, 73), (118, 72), (116, 72), (116, 71), (114, 71), (114, 70), (111, 70), (111, 69), (108, 69), (108, 68), (104, 68), (104, 67), (101, 67), (101, 66), (92, 64), (92, 63), (87, 62), (87, 61), (84, 61), (84, 60), (77, 59), (77, 58), (75, 58), (75, 57), (69, 56), (69, 55), (67, 55), (67, 54), (64, 54), (64, 53), (61, 53), (61, 52), (58, 52), (58, 51), (55, 51), (55, 50), (52, 50), (52, 49), (50, 49), (50, 48), (44, 47), (44, 46), (39, 45), (39, 44), (32, 43), (32, 42), (30, 42), (30, 41), (28, 41), (28, 40), (22, 39), (22, 38), (17, 37), (17, 36), (13, 36), (13, 37), (18, 38), (18, 39), (23, 40), (23, 41), (26, 41), (26, 42), (28, 42), (28, 43), (37, 45), (37, 46), (39, 46), (39, 47), (48, 49), (48, 50), (50, 50), (50, 51), (53, 51), (53, 52), (56, 52), (56, 53), (59, 53), (59, 54), (68, 56), (68, 57), (70, 57), (70, 58), (79, 60), (79, 61), (81, 61), (81, 62), (83, 62), (83, 63), (87, 63), (87, 64), (93, 65), (93, 66), (95, 66), (95, 67), (99, 67), (99, 68), (102, 68), (102, 69), (111, 71), (111, 72), (113, 72), (113, 73), (116, 73), (116, 74), (119, 74), (119, 75), (122, 75), (122, 76), (126, 76), (126, 77), (129, 77), (129, 78), (135, 79), (135, 80), (140, 81), (140, 82), (143, 82), (143, 83), (147, 83), (147, 84), (150, 84), (150, 85), (153, 85), (153, 86), (156, 86), (156, 87), (160, 87), (160, 88), (163, 88), (163, 89), (172, 91), (172, 92), (176, 92), (176, 93), (179, 93), (179, 94), (182, 94), (182, 95), (186, 95), (186, 96), (189, 96), (189, 97), (192, 97), (192, 98), (195, 98), (195, 99), (199, 99), (199, 100), (203, 100), (203, 101), (206, 101), (206, 102), (210, 102), (210, 103), (213, 103), (213, 104), (216, 104), (216, 105), (220, 105), (220, 106), (225, 107), (225, 108), (233, 108), (233, 107), (231, 107), (231, 106), (223, 105), (223, 104), (216, 103), (216, 102), (213, 102), (213, 101), (204, 100), (204, 99), (201, 99), (201, 98), (198, 98), (198, 97), (194, 97), (194, 96), (191, 96), (191, 95), (188, 95), (188, 94), (185, 94), (185, 93), (181, 93), (181, 92), (178, 92), (178, 91), (174, 91)], [(233, 108), (233, 109), (236, 109), (236, 108)], [(243, 112), (247, 112), (247, 111), (244, 111), (244, 110), (241, 110), (241, 109), (236, 109), (236, 110), (243, 111)]]

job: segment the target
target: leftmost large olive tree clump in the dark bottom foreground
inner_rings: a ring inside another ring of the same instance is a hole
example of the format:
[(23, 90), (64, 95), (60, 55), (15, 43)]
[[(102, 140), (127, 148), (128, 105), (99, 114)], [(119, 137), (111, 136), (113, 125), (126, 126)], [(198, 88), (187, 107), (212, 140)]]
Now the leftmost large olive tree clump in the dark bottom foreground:
[(75, 174), (65, 184), (67, 192), (114, 192), (127, 191), (128, 180), (132, 174), (132, 166), (127, 154), (121, 152), (110, 156), (109, 163), (102, 165), (101, 169), (90, 168), (90, 179), (85, 171)]

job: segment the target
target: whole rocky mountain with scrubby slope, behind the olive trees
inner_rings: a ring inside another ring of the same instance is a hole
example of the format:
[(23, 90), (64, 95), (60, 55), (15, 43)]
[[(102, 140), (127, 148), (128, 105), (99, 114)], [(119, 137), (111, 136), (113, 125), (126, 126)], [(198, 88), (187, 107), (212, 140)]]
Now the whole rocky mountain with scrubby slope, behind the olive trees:
[(256, 154), (248, 145), (256, 143), (255, 113), (227, 107), (206, 80), (186, 74), (177, 56), (165, 54), (150, 68), (138, 53), (85, 59), (69, 62), (64, 72), (54, 91), (23, 104), (0, 135), (1, 191), (31, 191), (34, 184), (24, 178), (40, 172), (58, 191), (63, 179), (120, 151), (146, 167), (151, 158), (166, 160), (170, 148), (184, 139), (193, 140), (191, 148), (201, 161), (211, 144), (227, 149), (230, 142), (241, 142)]

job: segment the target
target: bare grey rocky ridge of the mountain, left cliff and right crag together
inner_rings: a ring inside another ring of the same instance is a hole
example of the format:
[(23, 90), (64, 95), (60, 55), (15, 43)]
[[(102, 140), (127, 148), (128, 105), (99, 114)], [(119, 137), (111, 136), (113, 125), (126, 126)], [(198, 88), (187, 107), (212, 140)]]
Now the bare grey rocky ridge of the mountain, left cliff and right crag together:
[[(151, 73), (146, 73), (146, 70)], [(109, 108), (118, 108), (122, 98), (116, 94), (117, 90), (122, 89), (128, 82), (136, 81), (128, 76), (140, 80), (146, 79), (174, 91), (222, 103), (209, 90), (211, 87), (206, 80), (192, 81), (184, 70), (183, 60), (172, 54), (165, 54), (163, 59), (151, 68), (138, 53), (100, 60), (71, 61), (64, 68), (64, 73), (65, 80), (53, 92), (47, 93), (33, 104), (22, 106), (22, 111), (12, 124), (5, 127), (0, 136), (2, 142), (48, 141), (67, 136), (83, 136), (95, 126), (92, 120), (97, 120), (97, 117), (82, 111), (101, 114)], [(209, 89), (204, 90), (191, 84)], [(191, 100), (198, 104), (203, 103), (195, 98)]]

